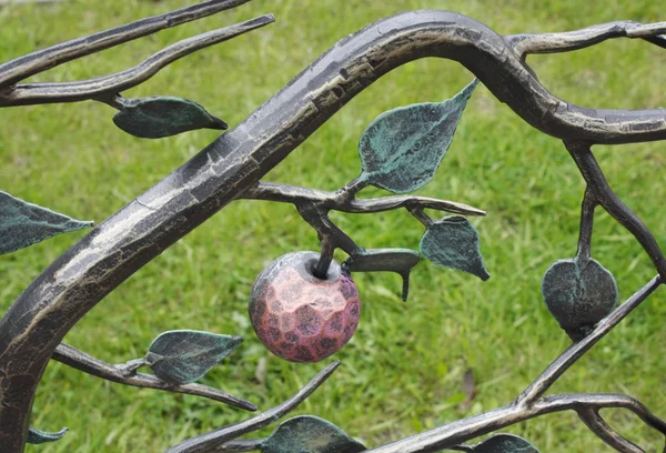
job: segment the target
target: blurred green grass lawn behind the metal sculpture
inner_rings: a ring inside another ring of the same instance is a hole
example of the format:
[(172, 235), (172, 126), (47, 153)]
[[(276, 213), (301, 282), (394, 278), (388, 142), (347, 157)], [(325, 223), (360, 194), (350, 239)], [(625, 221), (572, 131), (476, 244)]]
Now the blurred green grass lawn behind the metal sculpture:
[[(0, 60), (193, 1), (67, 1), (0, 7)], [(105, 74), (199, 32), (273, 12), (276, 22), (180, 60), (127, 95), (179, 95), (239, 123), (344, 36), (404, 10), (463, 12), (500, 33), (565, 31), (616, 19), (666, 20), (648, 0), (254, 1), (196, 23), (71, 62), (34, 80)], [(657, 108), (665, 103), (666, 52), (643, 41), (614, 40), (574, 53), (531, 58), (556, 95), (585, 107)], [(324, 124), (268, 180), (334, 190), (360, 170), (356, 143), (381, 112), (443, 100), (472, 74), (455, 62), (422, 60), (382, 78)], [(0, 188), (80, 219), (102, 221), (211, 142), (214, 131), (147, 141), (122, 133), (113, 111), (84, 102), (0, 111)], [(597, 147), (616, 192), (666, 243), (663, 144)], [(359, 331), (334, 358), (335, 375), (295, 413), (323, 416), (375, 446), (509, 403), (569, 341), (547, 312), (542, 275), (575, 253), (584, 184), (563, 145), (524, 123), (480, 87), (435, 180), (420, 193), (488, 211), (474, 219), (493, 278), (482, 283), (421, 263), (406, 304), (400, 279), (356, 278), (363, 313)], [(365, 193), (365, 192), (364, 192)], [(367, 192), (380, 194), (380, 191)], [(364, 246), (417, 248), (422, 226), (406, 212), (340, 215), (334, 220)], [(67, 234), (0, 256), (0, 310), (82, 235)], [(67, 342), (108, 362), (143, 355), (172, 329), (242, 334), (245, 342), (203, 383), (269, 409), (322, 369), (272, 356), (246, 314), (255, 275), (276, 256), (316, 250), (316, 234), (290, 205), (236, 202), (167, 250), (104, 299)], [(655, 273), (633, 238), (606, 214), (595, 223), (594, 253), (616, 276), (622, 299)], [(619, 392), (662, 416), (666, 402), (666, 303), (658, 291), (579, 361), (553, 392)], [(265, 363), (265, 375), (256, 375)], [(462, 378), (474, 370), (477, 395), (463, 404)], [(659, 435), (624, 411), (608, 421), (647, 451)], [(249, 415), (210, 401), (138, 390), (51, 363), (39, 387), (32, 425), (67, 436), (40, 452), (161, 452)], [(272, 429), (261, 435), (268, 435)], [(609, 451), (573, 414), (555, 414), (506, 430), (542, 452)]]

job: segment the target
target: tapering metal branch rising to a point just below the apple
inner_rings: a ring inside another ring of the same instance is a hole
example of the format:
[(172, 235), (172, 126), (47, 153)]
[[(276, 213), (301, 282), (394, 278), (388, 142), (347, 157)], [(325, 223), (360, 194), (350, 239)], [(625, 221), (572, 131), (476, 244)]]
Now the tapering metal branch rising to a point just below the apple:
[[(234, 423), (229, 426), (223, 426), (219, 430), (208, 432), (205, 434), (198, 435), (180, 444), (169, 449), (167, 453), (212, 453), (219, 452), (222, 444), (240, 437), (243, 434), (248, 434), (264, 426), (268, 426), (278, 420), (285, 416), (294, 407), (301, 404), (307, 396), (310, 396), (321, 384), (323, 384), (333, 372), (340, 366), (340, 361), (335, 361), (322, 370), (316, 376), (312, 379), (299, 393), (286, 400), (284, 403), (275, 406), (262, 414), (259, 414), (252, 419), (245, 420), (244, 422)], [(224, 451), (224, 450), (222, 450)], [(238, 451), (238, 450), (236, 450)]]

